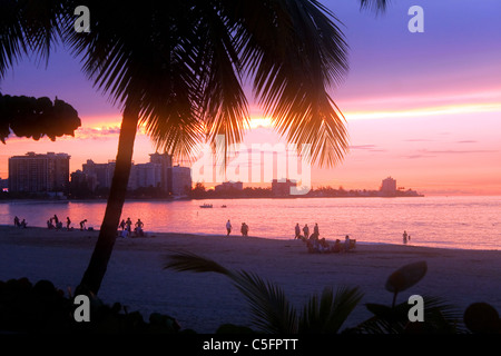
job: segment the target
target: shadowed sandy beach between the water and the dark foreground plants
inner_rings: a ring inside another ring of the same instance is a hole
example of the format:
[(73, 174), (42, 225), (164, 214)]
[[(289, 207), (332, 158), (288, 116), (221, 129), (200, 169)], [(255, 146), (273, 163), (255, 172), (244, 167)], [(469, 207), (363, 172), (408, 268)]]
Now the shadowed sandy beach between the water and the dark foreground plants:
[[(98, 231), (1, 226), (0, 280), (49, 279), (60, 289), (75, 289), (97, 236)], [(418, 294), (445, 298), (462, 312), (471, 303), (487, 301), (501, 313), (501, 251), (357, 241), (354, 253), (320, 255), (308, 254), (301, 240), (236, 235), (117, 238), (99, 297), (106, 304), (119, 301), (145, 318), (154, 312), (168, 314), (197, 333), (214, 333), (225, 323), (252, 326), (246, 299), (226, 277), (165, 270), (170, 250), (188, 250), (227, 268), (256, 273), (282, 287), (298, 308), (324, 287), (358, 286), (364, 297), (343, 328), (371, 316), (365, 303), (390, 305), (392, 295), (384, 289), (389, 275), (419, 260), (428, 263), (428, 274), (397, 301)]]

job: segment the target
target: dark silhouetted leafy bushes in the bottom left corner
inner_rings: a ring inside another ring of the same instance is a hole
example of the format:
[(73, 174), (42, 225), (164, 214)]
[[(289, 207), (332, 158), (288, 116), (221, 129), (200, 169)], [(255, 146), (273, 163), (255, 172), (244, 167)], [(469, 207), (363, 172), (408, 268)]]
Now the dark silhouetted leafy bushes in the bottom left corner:
[[(180, 327), (170, 316), (154, 313), (145, 322), (119, 303), (105, 305), (90, 297), (90, 322), (76, 322), (78, 304), (49, 280), (0, 281), (0, 333), (13, 334), (174, 334)], [(184, 330), (187, 333), (189, 330)]]

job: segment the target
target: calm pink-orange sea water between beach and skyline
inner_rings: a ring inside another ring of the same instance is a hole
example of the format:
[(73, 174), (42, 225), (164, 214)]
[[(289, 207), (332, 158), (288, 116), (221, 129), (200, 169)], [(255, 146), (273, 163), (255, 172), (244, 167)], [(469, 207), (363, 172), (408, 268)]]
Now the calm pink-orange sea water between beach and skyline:
[[(204, 202), (212, 209), (202, 209)], [(226, 208), (222, 206), (226, 205)], [(106, 202), (0, 204), (0, 224), (12, 225), (13, 217), (29, 226), (45, 227), (50, 216), (72, 226), (82, 219), (99, 228)], [(249, 236), (289, 239), (294, 226), (315, 222), (321, 237), (342, 239), (345, 235), (361, 243), (402, 244), (402, 233), (411, 245), (444, 248), (501, 249), (501, 197), (423, 198), (315, 198), (315, 199), (215, 199), (190, 201), (126, 202), (122, 217), (140, 218), (146, 231), (226, 234), (230, 219), (234, 235), (243, 221)]]

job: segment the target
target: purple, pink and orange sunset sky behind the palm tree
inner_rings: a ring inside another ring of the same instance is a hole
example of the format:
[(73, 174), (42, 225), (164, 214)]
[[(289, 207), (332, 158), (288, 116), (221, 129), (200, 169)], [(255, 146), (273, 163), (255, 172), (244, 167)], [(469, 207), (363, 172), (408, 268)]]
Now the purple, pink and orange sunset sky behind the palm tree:
[[(343, 22), (350, 72), (332, 97), (344, 113), (350, 152), (334, 168), (313, 168), (313, 186), (379, 189), (392, 176), (425, 195), (501, 195), (501, 1), (391, 1), (383, 14), (360, 11), (355, 0), (321, 1)], [(411, 33), (411, 6), (424, 10), (424, 32)], [(90, 13), (91, 13), (90, 9)], [(10, 137), (0, 147), (0, 177), (8, 158), (28, 151), (67, 152), (70, 170), (87, 159), (115, 159), (120, 111), (82, 75), (63, 48), (49, 65), (26, 59), (9, 70), (0, 91), (56, 96), (82, 120), (76, 137), (55, 142)], [(250, 90), (249, 90), (250, 92)], [(262, 119), (248, 97), (252, 117)], [(257, 121), (256, 121), (257, 122)], [(266, 127), (253, 140), (277, 142)], [(154, 152), (139, 134), (135, 162)]]

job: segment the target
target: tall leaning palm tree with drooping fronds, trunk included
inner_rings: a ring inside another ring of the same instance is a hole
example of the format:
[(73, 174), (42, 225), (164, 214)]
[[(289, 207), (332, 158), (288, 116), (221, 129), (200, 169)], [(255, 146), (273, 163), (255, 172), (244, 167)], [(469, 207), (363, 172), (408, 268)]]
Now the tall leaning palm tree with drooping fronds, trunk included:
[[(363, 8), (385, 2), (360, 0)], [(77, 6), (90, 9), (90, 33), (73, 30)], [(171, 155), (190, 157), (218, 135), (228, 147), (248, 127), (243, 86), (250, 79), (275, 129), (298, 149), (310, 144), (312, 161), (333, 166), (347, 150), (344, 117), (328, 95), (348, 69), (347, 44), (337, 19), (316, 0), (170, 0), (161, 8), (7, 0), (0, 10), (8, 33), (0, 38), (0, 75), (28, 51), (48, 55), (60, 36), (122, 110), (108, 204), (81, 290), (97, 294), (105, 276), (138, 126)]]

